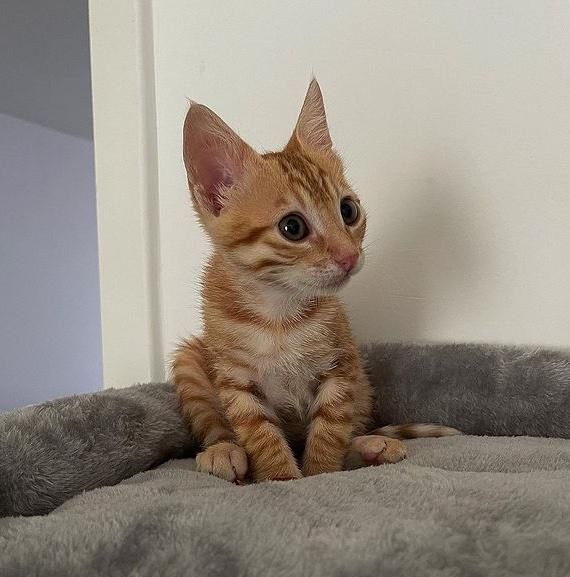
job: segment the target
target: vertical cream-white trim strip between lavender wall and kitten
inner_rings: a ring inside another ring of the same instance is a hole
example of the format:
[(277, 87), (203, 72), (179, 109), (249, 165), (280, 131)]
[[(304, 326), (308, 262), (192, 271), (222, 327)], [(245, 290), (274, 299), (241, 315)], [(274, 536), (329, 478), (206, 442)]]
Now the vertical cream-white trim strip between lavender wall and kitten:
[(151, 4), (89, 3), (105, 386), (164, 378)]

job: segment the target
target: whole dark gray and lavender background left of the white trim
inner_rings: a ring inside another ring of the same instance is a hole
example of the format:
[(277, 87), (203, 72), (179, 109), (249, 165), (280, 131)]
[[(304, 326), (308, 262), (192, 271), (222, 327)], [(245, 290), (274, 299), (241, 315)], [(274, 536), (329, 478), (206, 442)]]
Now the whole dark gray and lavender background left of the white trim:
[(0, 9), (0, 412), (101, 388), (87, 0)]

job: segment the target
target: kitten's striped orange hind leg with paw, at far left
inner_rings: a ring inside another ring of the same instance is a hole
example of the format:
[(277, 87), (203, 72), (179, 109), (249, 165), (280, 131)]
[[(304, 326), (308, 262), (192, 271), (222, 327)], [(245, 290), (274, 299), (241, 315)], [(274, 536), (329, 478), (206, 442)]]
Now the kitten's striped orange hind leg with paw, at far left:
[(175, 351), (171, 370), (182, 416), (204, 448), (196, 457), (198, 471), (227, 481), (242, 481), (247, 473), (247, 455), (235, 443), (222, 413), (204, 343), (196, 337), (183, 341)]

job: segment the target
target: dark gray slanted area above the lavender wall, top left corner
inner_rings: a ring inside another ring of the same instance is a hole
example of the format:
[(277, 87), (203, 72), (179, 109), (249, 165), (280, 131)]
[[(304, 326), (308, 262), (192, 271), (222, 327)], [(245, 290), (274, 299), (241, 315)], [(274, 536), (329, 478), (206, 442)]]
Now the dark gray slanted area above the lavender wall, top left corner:
[(0, 113), (92, 140), (87, 0), (0, 7)]

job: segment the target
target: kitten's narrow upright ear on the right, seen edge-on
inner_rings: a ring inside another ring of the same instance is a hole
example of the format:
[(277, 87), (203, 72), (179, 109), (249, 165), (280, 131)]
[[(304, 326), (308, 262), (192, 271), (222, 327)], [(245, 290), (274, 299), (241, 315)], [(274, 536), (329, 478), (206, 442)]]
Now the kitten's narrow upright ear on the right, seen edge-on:
[(322, 151), (332, 148), (323, 94), (316, 78), (313, 78), (309, 84), (297, 125), (287, 147), (296, 146), (299, 143)]

